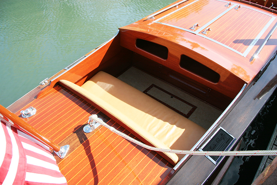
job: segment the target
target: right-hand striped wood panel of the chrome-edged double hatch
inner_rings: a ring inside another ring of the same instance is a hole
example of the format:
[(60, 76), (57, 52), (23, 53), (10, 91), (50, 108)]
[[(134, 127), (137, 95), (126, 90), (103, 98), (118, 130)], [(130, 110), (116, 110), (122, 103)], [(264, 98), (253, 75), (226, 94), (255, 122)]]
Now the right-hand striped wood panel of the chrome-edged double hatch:
[(246, 7), (233, 8), (209, 25), (211, 31), (206, 36), (243, 53), (270, 20), (271, 16), (262, 12)]

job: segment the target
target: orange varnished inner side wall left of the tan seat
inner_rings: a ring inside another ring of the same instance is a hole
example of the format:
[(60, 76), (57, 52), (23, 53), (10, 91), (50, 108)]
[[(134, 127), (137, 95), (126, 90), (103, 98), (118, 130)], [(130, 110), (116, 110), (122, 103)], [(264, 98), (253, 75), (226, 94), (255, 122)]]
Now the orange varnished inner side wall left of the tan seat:
[(103, 43), (89, 52), (82, 60), (74, 64), (68, 70), (51, 80), (38, 95), (37, 98), (47, 93), (61, 79), (82, 85), (99, 71), (107, 72), (113, 76), (130, 67), (130, 55), (132, 52), (120, 47), (119, 35)]

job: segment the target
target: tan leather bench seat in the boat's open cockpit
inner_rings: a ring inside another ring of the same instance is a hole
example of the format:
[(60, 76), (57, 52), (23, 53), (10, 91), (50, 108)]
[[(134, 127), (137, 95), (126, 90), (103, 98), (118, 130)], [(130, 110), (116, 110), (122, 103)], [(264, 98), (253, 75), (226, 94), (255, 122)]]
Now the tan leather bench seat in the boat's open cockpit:
[[(83, 94), (85, 92), (94, 103), (156, 147), (164, 145), (170, 149), (190, 150), (206, 132), (201, 126), (105, 72), (98, 72), (84, 83), (81, 87), (86, 91), (66, 80), (60, 81)], [(178, 161), (177, 156), (176, 159), (174, 154), (169, 155), (175, 163)]]

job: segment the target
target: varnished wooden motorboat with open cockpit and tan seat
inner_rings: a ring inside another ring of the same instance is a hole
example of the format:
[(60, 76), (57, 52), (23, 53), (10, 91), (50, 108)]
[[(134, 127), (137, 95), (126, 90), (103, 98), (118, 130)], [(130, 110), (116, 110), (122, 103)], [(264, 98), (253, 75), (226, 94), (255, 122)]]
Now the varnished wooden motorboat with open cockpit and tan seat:
[[(119, 28), (10, 112), (1, 107), (2, 121), (30, 125), (55, 151), (69, 145), (64, 158), (53, 153), (68, 184), (217, 184), (231, 157), (155, 152), (84, 126), (96, 114), (150, 146), (236, 150), (276, 88), (276, 13), (241, 0), (177, 1)], [(22, 117), (29, 107), (36, 113)]]

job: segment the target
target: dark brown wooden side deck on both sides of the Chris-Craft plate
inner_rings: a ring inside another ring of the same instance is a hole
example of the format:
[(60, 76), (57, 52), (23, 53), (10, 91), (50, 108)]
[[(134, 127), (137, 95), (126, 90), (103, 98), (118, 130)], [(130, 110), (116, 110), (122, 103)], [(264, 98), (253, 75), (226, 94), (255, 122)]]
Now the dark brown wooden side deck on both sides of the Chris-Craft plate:
[[(271, 61), (271, 64), (255, 85), (250, 84), (248, 86), (241, 98), (231, 107), (227, 116), (219, 121), (219, 126), (232, 134), (236, 138), (236, 142), (240, 140), (244, 131), (276, 89), (276, 78), (277, 58)], [(195, 168), (192, 168), (192, 166)], [(167, 184), (181, 185), (184, 182), (186, 184), (202, 184), (217, 167), (218, 165), (215, 166), (205, 156), (191, 156)], [(198, 175), (195, 176), (195, 174)], [(191, 176), (194, 176), (194, 178), (190, 178)]]

